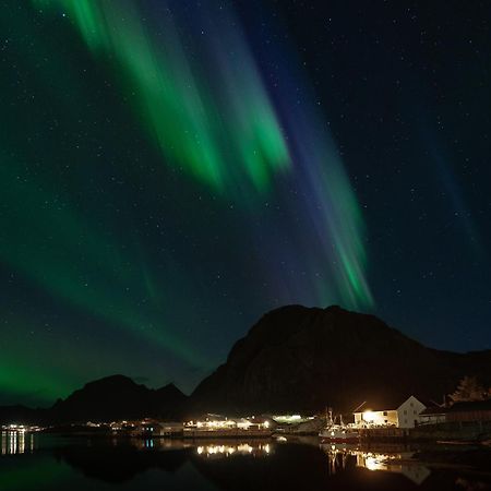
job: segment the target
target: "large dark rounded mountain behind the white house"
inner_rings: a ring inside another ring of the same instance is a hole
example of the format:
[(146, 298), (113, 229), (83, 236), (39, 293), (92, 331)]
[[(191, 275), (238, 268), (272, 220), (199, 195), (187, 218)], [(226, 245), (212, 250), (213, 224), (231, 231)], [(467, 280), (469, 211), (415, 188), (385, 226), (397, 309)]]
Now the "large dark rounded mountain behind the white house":
[(466, 374), (490, 385), (491, 351), (440, 351), (373, 315), (288, 306), (238, 340), (192, 400), (207, 411), (351, 411), (410, 394), (441, 402)]

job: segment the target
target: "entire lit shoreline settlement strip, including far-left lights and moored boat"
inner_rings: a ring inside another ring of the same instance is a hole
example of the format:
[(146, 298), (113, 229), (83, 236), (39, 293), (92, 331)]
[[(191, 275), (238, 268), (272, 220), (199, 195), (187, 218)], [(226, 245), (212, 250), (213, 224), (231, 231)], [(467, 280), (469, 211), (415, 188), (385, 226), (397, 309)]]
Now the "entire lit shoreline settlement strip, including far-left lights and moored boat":
[[(340, 436), (330, 438), (336, 428)], [(277, 439), (316, 436), (335, 443), (354, 442), (477, 442), (491, 443), (491, 398), (472, 378), (465, 378), (457, 391), (442, 404), (417, 395), (404, 400), (364, 400), (349, 414), (331, 408), (313, 415), (262, 414), (226, 416), (203, 414), (184, 421), (157, 418), (121, 421), (86, 421), (56, 427), (33, 427), (12, 422), (7, 433), (63, 433), (152, 439)], [(343, 436), (349, 435), (348, 436)]]

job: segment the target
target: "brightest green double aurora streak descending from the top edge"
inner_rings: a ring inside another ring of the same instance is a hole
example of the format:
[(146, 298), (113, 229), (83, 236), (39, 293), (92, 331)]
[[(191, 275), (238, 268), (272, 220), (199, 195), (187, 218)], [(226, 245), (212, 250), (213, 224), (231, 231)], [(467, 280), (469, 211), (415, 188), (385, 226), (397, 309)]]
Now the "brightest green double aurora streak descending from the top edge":
[[(112, 61), (169, 164), (223, 193), (240, 187), (244, 178), (258, 190), (265, 189), (275, 171), (290, 165), (272, 105), (238, 36), (223, 39), (225, 46), (233, 46), (233, 56), (219, 67), (225, 86), (214, 91), (204, 68), (188, 62), (170, 16), (157, 46), (131, 1), (34, 3), (63, 9), (91, 51), (104, 62)], [(233, 167), (227, 155), (233, 155)]]

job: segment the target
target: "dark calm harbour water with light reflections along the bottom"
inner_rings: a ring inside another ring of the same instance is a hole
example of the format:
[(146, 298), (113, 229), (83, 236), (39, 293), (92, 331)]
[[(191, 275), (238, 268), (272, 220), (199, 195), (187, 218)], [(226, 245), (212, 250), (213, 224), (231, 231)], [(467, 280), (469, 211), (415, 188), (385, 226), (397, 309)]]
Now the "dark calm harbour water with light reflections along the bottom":
[(491, 490), (491, 450), (2, 433), (0, 490)]

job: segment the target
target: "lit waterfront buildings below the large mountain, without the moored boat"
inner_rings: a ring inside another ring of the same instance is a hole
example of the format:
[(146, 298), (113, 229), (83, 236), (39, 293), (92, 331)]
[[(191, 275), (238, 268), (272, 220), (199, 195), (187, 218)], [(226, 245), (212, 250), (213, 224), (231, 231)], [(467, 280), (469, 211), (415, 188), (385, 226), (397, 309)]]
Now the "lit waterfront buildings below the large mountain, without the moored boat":
[[(410, 395), (400, 404), (363, 403), (351, 415), (338, 417), (344, 427), (355, 430), (361, 441), (467, 441), (491, 443), (491, 399), (460, 402), (452, 406), (424, 404)], [(335, 421), (334, 423), (337, 423)], [(315, 436), (330, 424), (326, 415), (260, 415), (227, 417), (206, 414), (184, 422), (144, 420), (140, 422), (100, 423), (116, 434), (145, 439), (288, 439)], [(339, 426), (337, 423), (337, 426)]]

